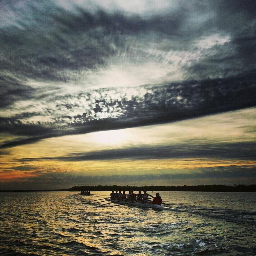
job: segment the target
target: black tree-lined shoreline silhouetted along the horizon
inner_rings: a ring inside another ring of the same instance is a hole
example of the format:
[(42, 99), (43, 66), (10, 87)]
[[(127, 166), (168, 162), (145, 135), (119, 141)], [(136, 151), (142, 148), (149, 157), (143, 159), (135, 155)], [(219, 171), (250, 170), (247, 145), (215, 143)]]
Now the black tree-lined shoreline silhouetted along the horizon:
[(190, 191), (190, 192), (256, 192), (256, 184), (252, 185), (197, 185), (197, 186), (75, 186), (69, 189), (6, 189), (0, 192), (47, 192), (47, 191), (116, 191), (116, 190), (133, 190), (133, 191)]

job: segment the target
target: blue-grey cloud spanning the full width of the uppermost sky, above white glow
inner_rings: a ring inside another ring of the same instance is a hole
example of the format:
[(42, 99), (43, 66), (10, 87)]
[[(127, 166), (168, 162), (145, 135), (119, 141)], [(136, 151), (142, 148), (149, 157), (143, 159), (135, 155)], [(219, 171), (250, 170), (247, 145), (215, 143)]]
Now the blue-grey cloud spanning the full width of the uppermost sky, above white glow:
[[(227, 73), (226, 69), (231, 72), (231, 62), (234, 60), (234, 71), (243, 71), (236, 66), (239, 63), (247, 63), (247, 68), (255, 68), (255, 15), (252, 15), (255, 4), (244, 1), (215, 2), (180, 2), (180, 8), (175, 11), (170, 8), (169, 12), (147, 16), (127, 16), (122, 10), (108, 12), (100, 10), (100, 7), (96, 12), (90, 12), (86, 7), (67, 10), (51, 1), (28, 1), (23, 5), (19, 1), (2, 2), (3, 10), (11, 10), (17, 17), (9, 21), (10, 24), (3, 22), (5, 26), (0, 28), (3, 54), (0, 68), (29, 78), (65, 81), (69, 77), (60, 71), (93, 69), (105, 65), (108, 57), (124, 51), (127, 36), (133, 36), (143, 43), (153, 33), (152, 41), (161, 42), (169, 38), (172, 39), (169, 49), (188, 50), (194, 39), (213, 32), (230, 35), (231, 43), (219, 47), (214, 55), (209, 52), (210, 58), (206, 52), (205, 58), (195, 63), (195, 67), (192, 65), (190, 72), (197, 73), (196, 67), (203, 68), (204, 64), (204, 69), (209, 66), (204, 78), (212, 77), (214, 73), (223, 75)], [(10, 13), (2, 15), (4, 20)], [(196, 19), (197, 16), (201, 19)], [(159, 44), (159, 47), (164, 46)], [(230, 51), (234, 47), (235, 52)], [(147, 52), (141, 54), (147, 55)], [(219, 70), (222, 65), (216, 65), (214, 61), (211, 62), (212, 59), (227, 67)]]

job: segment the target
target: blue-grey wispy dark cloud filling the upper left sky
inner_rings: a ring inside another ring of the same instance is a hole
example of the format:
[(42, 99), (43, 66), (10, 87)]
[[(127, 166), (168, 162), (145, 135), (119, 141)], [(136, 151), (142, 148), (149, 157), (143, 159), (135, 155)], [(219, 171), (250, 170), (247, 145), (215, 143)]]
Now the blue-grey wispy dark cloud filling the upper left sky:
[(124, 49), (126, 36), (143, 36), (148, 31), (177, 33), (180, 18), (186, 17), (142, 19), (82, 8), (74, 12), (47, 1), (25, 4), (23, 10), (12, 2), (7, 5), (22, 18), (15, 20), (16, 26), (0, 28), (0, 68), (28, 78), (57, 81), (69, 78), (60, 72), (65, 69), (104, 65), (108, 57)]

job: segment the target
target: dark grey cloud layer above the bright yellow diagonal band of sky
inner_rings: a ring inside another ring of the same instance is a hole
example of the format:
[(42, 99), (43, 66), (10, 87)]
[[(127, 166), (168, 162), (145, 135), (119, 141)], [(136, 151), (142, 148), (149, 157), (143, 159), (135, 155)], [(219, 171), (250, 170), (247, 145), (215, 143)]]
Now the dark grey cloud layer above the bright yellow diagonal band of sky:
[[(2, 116), (0, 132), (26, 137), (5, 141), (0, 148), (255, 106), (253, 1), (180, 1), (176, 9), (132, 15), (122, 8), (91, 10), (86, 4), (65, 8), (52, 1), (0, 4), (0, 108), (12, 112), (13, 104), (21, 100), (44, 105), (38, 111), (24, 109)], [(211, 35), (229, 39), (201, 49), (199, 39), (206, 38), (208, 44)], [(86, 79), (83, 72), (108, 70), (112, 58), (170, 64), (175, 59), (165, 58), (170, 51), (199, 56), (177, 63), (185, 78), (182, 82), (143, 85), (134, 89), (132, 97), (125, 94), (126, 88), (112, 88), (116, 98), (108, 88), (93, 91), (85, 86), (81, 91), (74, 85)], [(74, 92), (62, 92), (57, 85), (33, 87), (31, 79), (70, 84)], [(145, 93), (136, 93), (141, 88)], [(40, 121), (30, 121), (36, 116)]]

